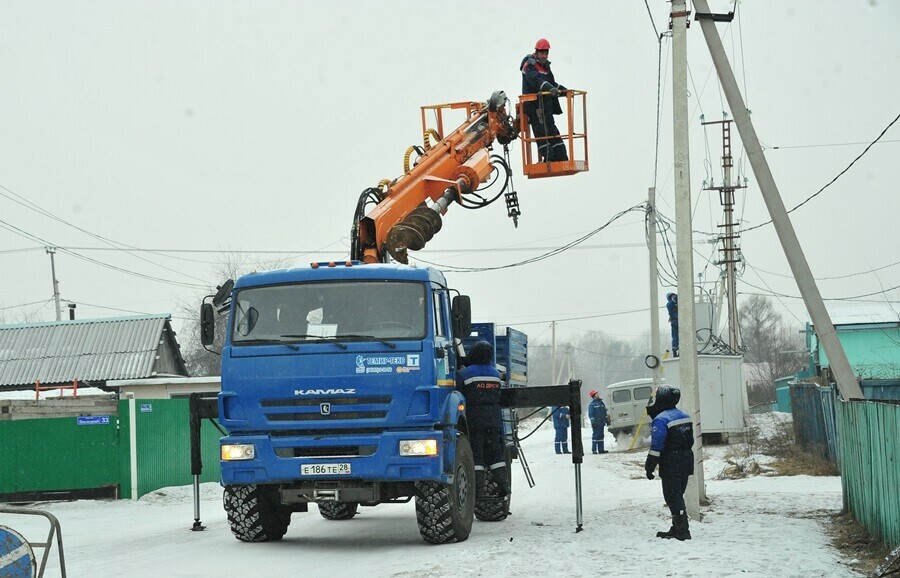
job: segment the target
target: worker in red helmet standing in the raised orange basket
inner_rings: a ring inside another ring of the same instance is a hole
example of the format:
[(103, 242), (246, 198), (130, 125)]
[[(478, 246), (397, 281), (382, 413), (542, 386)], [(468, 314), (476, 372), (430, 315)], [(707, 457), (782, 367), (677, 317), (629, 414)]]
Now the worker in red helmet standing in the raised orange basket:
[[(553, 115), (562, 114), (559, 95), (566, 93), (566, 87), (557, 84), (550, 70), (550, 42), (541, 38), (534, 44), (534, 53), (527, 55), (519, 64), (522, 71), (522, 94), (539, 94), (537, 100), (522, 105), (528, 116), (528, 124), (535, 137), (550, 137), (538, 141), (538, 158), (541, 161), (567, 161), (566, 145), (559, 136), (559, 129)], [(541, 94), (549, 93), (549, 94)]]

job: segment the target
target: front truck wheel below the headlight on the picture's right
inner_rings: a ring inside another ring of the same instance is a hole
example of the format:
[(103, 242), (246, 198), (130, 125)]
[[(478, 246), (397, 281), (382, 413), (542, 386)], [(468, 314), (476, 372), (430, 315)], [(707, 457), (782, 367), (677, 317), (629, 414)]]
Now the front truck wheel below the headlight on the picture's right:
[(416, 521), (426, 542), (462, 542), (472, 531), (475, 514), (475, 462), (469, 439), (456, 438), (453, 483), (416, 482)]

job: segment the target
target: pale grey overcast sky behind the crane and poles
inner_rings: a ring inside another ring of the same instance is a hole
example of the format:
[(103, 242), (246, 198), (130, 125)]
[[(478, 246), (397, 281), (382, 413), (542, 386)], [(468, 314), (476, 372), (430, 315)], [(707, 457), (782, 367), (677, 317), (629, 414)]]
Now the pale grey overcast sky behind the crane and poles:
[[(60, 293), (81, 318), (177, 315), (177, 303), (200, 291), (194, 286), (218, 281), (211, 263), (226, 251), (282, 251), (274, 256), (297, 265), (345, 258), (360, 191), (399, 176), (406, 147), (421, 143), (419, 107), (485, 100), (494, 90), (514, 99), (518, 64), (540, 37), (550, 40), (557, 79), (588, 92), (591, 170), (528, 180), (516, 142), (518, 229), (502, 201), (476, 212), (454, 206), (419, 256), (454, 267), (512, 264), (596, 229), (644, 201), (654, 182), (660, 211), (674, 218), (668, 38), (654, 174), (653, 26), (667, 28), (670, 5), (650, 0), (653, 22), (639, 0), (549, 6), (4, 2), (0, 316), (54, 319), (44, 245), (59, 247)], [(719, 31), (790, 208), (900, 113), (900, 3), (743, 0), (738, 16)], [(696, 23), (688, 50), (694, 229), (714, 231), (718, 198), (702, 188), (721, 179), (722, 145), (718, 126), (704, 129), (700, 115), (719, 120), (727, 104)], [(735, 164), (748, 179), (737, 214), (750, 227), (768, 215), (734, 135)], [(865, 273), (821, 280), (825, 297), (900, 285), (898, 158), (900, 122), (792, 214), (817, 277)], [(717, 255), (707, 239), (696, 237), (704, 257), (695, 270), (712, 289), (718, 273), (707, 257)], [(99, 250), (110, 244), (159, 252)], [(739, 293), (799, 294), (782, 277), (789, 269), (771, 225), (747, 232), (741, 246), (752, 267)], [(646, 333), (646, 312), (605, 315), (648, 306), (647, 270), (643, 215), (633, 212), (539, 263), (448, 279), (472, 296), (476, 318), (546, 341), (553, 319), (562, 320), (560, 338)], [(870, 299), (885, 295), (900, 300), (898, 290)], [(798, 299), (782, 298), (779, 308), (798, 327), (807, 319)]]

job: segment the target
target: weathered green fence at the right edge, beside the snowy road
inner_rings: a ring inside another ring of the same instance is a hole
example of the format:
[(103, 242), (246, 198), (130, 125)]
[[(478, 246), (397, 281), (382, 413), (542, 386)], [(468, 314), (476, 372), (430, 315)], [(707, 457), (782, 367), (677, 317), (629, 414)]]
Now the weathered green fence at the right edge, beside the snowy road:
[(900, 544), (900, 404), (837, 402), (844, 504), (869, 534)]

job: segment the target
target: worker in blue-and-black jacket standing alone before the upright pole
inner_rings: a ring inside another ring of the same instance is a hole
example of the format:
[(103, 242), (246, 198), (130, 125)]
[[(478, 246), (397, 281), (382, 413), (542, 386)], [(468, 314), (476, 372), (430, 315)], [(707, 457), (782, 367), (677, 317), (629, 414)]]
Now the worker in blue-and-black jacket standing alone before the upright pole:
[(668, 532), (657, 532), (657, 538), (690, 540), (684, 491), (688, 477), (694, 475), (694, 424), (688, 414), (675, 405), (681, 399), (681, 390), (671, 385), (661, 385), (647, 405), (647, 415), (653, 418), (650, 452), (644, 469), (652, 480), (653, 470), (659, 465), (663, 498), (672, 513), (672, 527)]

